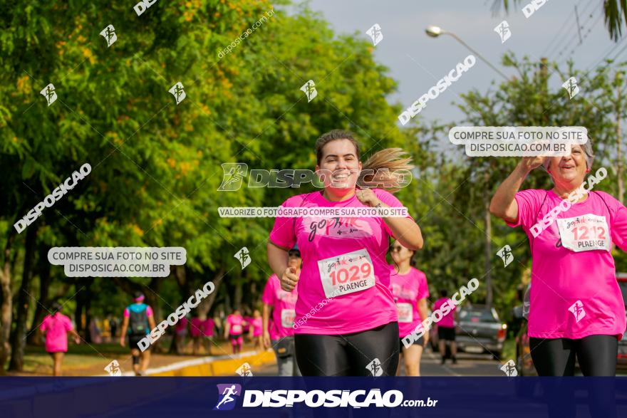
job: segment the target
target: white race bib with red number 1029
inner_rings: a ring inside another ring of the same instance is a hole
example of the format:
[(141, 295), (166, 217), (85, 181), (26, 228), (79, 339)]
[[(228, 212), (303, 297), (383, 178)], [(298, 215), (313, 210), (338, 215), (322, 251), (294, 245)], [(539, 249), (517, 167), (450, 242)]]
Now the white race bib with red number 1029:
[(366, 249), (318, 261), (318, 270), (327, 298), (375, 286), (374, 267)]

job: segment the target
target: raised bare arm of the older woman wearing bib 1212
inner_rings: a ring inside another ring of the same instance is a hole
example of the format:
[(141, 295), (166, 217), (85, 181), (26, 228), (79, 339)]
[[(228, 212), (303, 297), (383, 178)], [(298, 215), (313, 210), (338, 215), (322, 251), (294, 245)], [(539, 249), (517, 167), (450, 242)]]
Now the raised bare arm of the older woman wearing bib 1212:
[(490, 202), (489, 211), (497, 218), (514, 223), (518, 219), (516, 194), (532, 169), (539, 167), (546, 157), (522, 157), (514, 171), (499, 185)]

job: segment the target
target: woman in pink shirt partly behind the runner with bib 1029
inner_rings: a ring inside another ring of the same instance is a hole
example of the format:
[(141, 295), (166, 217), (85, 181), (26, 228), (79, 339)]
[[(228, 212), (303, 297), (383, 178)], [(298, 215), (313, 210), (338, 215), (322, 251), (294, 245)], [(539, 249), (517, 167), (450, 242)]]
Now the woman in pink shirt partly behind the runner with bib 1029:
[[(413, 333), (413, 330), (427, 319), (427, 276), (415, 268), (415, 251), (405, 248), (397, 241), (392, 244), (392, 259), (390, 266), (390, 288), (398, 312), (398, 336), (403, 345), (403, 338)], [(401, 348), (405, 359), (405, 375), (420, 376), (420, 357), (423, 348), (429, 342), (429, 333), (415, 340), (408, 348)], [(400, 374), (400, 364), (397, 375)]]

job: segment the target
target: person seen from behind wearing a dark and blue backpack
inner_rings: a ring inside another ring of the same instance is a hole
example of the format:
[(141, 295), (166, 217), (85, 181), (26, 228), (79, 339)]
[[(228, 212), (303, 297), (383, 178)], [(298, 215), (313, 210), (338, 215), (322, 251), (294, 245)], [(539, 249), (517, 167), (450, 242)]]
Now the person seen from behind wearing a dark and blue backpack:
[[(124, 319), (122, 322), (122, 332), (120, 333), (120, 345), (125, 346), (125, 337), (128, 335), (128, 345), (130, 347), (130, 355), (133, 356), (133, 371), (135, 376), (145, 375), (148, 364), (150, 363), (150, 348), (140, 353), (138, 343), (142, 338), (155, 328), (155, 317), (152, 315), (152, 308), (142, 303), (145, 296), (141, 292), (135, 292), (134, 301), (124, 310)], [(141, 365), (140, 365), (141, 356)]]

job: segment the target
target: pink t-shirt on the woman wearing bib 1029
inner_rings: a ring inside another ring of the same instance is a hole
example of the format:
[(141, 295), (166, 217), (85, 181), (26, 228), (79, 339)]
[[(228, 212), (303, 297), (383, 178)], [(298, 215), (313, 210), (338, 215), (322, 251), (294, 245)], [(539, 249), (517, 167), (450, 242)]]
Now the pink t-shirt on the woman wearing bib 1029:
[[(403, 206), (389, 192), (371, 190), (388, 206)], [(331, 202), (322, 192), (299, 194), (281, 206), (366, 207), (356, 195)], [(383, 219), (357, 214), (351, 218), (315, 215), (275, 219), (270, 240), (284, 249), (298, 243), (303, 258), (295, 333), (358, 333), (396, 322), (390, 268), (385, 260), (390, 235)], [(307, 320), (301, 323), (304, 317)]]

